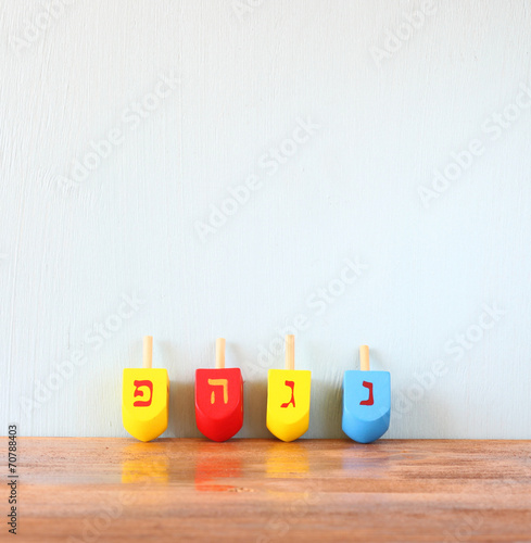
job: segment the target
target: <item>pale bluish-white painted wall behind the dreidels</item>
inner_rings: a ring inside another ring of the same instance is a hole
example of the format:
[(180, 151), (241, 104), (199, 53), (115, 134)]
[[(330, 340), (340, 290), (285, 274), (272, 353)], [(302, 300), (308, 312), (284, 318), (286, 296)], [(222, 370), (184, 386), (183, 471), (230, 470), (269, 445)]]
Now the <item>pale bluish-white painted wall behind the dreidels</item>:
[(125, 435), (122, 368), (152, 333), (166, 435), (198, 435), (217, 336), (240, 437), (268, 435), (282, 354), (258, 349), (296, 319), (306, 437), (342, 435), (366, 342), (388, 437), (531, 438), (531, 2), (3, 1), (0, 23), (0, 432)]

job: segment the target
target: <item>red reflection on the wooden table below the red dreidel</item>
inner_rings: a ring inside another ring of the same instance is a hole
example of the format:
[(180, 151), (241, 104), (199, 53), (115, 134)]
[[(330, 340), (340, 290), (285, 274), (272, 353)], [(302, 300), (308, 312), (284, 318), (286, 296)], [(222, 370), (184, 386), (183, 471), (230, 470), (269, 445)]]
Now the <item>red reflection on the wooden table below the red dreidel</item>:
[(233, 491), (233, 484), (227, 484), (231, 479), (241, 478), (241, 458), (238, 443), (235, 442), (202, 442), (195, 454), (195, 489), (200, 492)]

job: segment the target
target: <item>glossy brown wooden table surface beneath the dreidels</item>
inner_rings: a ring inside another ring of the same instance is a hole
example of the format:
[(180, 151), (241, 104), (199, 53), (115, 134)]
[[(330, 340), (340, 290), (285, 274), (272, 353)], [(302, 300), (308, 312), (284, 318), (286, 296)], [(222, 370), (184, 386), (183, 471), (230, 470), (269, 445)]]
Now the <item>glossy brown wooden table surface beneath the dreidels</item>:
[(20, 438), (17, 455), (13, 541), (531, 541), (531, 441)]

